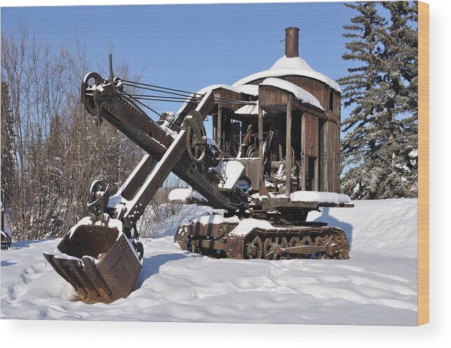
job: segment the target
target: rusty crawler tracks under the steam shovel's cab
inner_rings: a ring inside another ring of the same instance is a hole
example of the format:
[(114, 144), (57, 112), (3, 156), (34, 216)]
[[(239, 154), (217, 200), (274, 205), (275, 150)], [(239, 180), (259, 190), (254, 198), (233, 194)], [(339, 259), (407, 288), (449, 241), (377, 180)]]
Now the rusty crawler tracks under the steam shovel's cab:
[(255, 227), (245, 235), (234, 234), (237, 224), (181, 225), (174, 240), (183, 250), (210, 257), (284, 260), (347, 259), (349, 243), (337, 227)]

